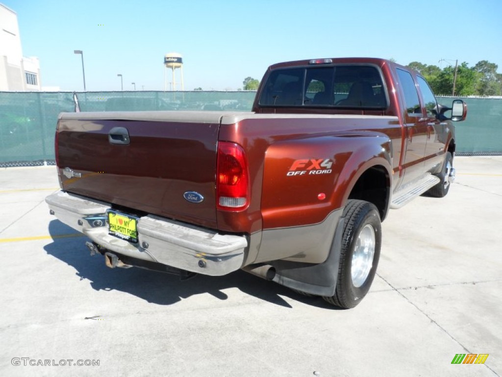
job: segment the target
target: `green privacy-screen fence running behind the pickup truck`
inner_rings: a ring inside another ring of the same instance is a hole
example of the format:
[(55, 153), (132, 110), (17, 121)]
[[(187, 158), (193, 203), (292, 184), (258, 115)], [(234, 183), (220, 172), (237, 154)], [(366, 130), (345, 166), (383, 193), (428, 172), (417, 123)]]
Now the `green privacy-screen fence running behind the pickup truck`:
[[(249, 111), (253, 91), (0, 92), (0, 166), (54, 163), (60, 112)], [(452, 98), (438, 97), (451, 106)], [(464, 98), (467, 120), (456, 123), (458, 154), (502, 154), (502, 99)]]

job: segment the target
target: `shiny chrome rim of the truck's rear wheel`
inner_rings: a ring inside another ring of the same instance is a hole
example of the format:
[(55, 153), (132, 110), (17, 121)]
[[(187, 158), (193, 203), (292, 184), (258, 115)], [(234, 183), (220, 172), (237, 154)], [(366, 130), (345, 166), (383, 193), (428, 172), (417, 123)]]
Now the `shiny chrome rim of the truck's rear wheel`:
[(366, 224), (359, 235), (352, 254), (352, 285), (359, 288), (364, 284), (373, 265), (375, 254), (375, 231), (373, 227)]

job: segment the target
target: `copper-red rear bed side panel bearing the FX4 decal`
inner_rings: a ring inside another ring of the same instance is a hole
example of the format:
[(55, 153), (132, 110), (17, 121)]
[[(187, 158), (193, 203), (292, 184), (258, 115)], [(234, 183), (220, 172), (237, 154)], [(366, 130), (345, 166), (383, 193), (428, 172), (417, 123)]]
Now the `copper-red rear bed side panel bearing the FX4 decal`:
[[(361, 168), (382, 165), (392, 177), (401, 135), (399, 120), (390, 117), (249, 118), (222, 125), (220, 140), (233, 140), (246, 151), (252, 189), (246, 213), (218, 211), (218, 226), (230, 231), (239, 224), (254, 231), (320, 223), (342, 207)], [(287, 176), (293, 161), (304, 158), (334, 159), (332, 173)], [(326, 193), (325, 201), (317, 199), (319, 192)]]

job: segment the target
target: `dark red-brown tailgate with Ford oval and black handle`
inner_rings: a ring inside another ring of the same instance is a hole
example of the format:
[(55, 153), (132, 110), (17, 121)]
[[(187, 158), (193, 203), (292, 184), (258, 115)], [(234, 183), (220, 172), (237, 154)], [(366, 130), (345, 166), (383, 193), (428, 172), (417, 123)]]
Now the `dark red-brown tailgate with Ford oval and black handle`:
[[(63, 113), (62, 189), (214, 228), (220, 119), (216, 112)], [(202, 202), (184, 199), (187, 192)]]

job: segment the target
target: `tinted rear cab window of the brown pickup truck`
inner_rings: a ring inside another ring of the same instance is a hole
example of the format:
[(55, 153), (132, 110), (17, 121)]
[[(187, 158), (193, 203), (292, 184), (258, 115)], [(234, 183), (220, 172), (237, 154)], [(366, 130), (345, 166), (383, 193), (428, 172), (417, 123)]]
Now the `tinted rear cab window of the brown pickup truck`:
[(270, 73), (259, 101), (270, 107), (385, 109), (382, 73), (372, 65), (279, 68)]

